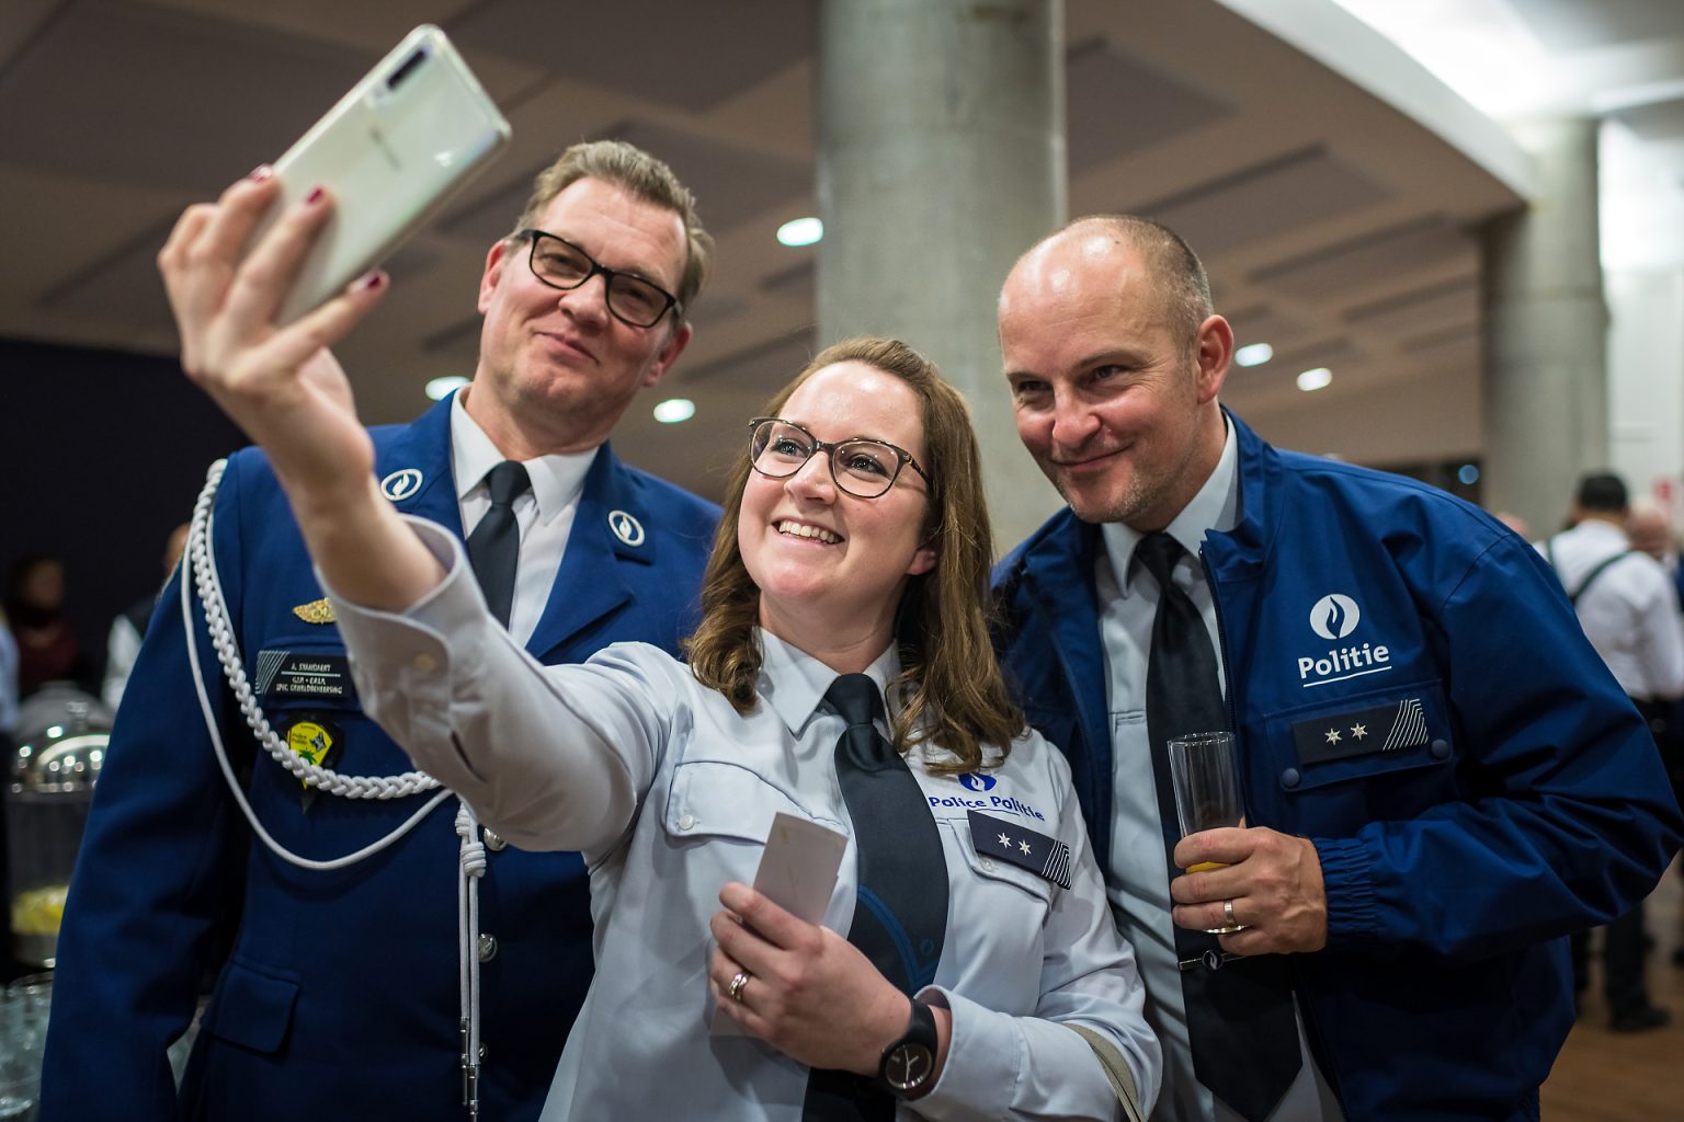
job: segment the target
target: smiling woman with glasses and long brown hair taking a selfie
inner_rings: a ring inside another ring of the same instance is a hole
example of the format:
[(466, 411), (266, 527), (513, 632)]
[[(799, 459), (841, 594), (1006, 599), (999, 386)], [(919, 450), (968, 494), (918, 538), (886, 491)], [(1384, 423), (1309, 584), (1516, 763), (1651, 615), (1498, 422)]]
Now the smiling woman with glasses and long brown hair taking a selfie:
[[(749, 424), (689, 664), (539, 666), (460, 543), (381, 496), (342, 375), (303, 358), (382, 286), (239, 326), (318, 229), (278, 224), (261, 273), (217, 259), (251, 190), (163, 252), (184, 363), (286, 483), (369, 712), (485, 826), (591, 866), (598, 974), (544, 1117), (1143, 1115), (1143, 991), (1068, 767), (1007, 701), (975, 436), (935, 368), (840, 343)], [(773, 843), (768, 892), (817, 883), (820, 922), (748, 886)]]

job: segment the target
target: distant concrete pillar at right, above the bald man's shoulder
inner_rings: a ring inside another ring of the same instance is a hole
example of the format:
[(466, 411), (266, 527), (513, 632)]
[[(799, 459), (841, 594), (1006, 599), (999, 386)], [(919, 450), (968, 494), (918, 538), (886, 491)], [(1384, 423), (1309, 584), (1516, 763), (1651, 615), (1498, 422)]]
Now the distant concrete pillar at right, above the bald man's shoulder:
[(1485, 505), (1537, 537), (1559, 527), (1581, 473), (1608, 468), (1596, 131), (1588, 118), (1514, 126), (1539, 193), (1484, 239)]

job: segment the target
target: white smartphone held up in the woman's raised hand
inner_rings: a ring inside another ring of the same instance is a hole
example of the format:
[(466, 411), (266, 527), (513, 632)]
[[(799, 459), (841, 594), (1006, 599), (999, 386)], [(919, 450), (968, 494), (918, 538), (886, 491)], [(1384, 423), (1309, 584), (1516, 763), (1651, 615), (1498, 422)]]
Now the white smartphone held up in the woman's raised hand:
[(509, 121), (436, 27), (409, 32), (274, 161), (281, 197), (253, 234), (317, 187), (333, 217), (276, 323), (290, 323), (376, 267), (509, 143)]

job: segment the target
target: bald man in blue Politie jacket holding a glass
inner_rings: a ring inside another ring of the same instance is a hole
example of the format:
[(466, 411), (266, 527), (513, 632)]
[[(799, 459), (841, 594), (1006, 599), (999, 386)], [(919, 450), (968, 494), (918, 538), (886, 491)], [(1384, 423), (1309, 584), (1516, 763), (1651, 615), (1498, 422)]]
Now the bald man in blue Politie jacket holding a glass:
[[(1152, 1117), (1536, 1119), (1564, 935), (1681, 833), (1559, 582), (1484, 511), (1223, 409), (1233, 330), (1155, 222), (1047, 237), (999, 315), (1068, 503), (1000, 564), (1000, 649), (1142, 964)], [(1165, 744), (1216, 730), (1246, 828), (1182, 838)]]

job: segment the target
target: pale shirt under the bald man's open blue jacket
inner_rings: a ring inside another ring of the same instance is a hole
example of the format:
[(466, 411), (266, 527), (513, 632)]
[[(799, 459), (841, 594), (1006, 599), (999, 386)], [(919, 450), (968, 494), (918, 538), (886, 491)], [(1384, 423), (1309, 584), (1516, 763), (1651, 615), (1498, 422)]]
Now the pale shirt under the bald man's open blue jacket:
[[(1238, 446), (1233, 426), (1211, 478), (1192, 501), (1165, 527), (1187, 555), (1170, 579), (1199, 609), (1211, 632), (1211, 649), (1221, 653), (1216, 606), (1204, 580), (1199, 547), (1206, 530), (1233, 530), (1239, 521)], [(1147, 737), (1147, 666), (1152, 656), (1152, 621), (1157, 617), (1159, 587), (1142, 565), (1130, 580), (1130, 558), (1143, 537), (1110, 521), (1101, 527), (1105, 552), (1095, 564), (1095, 587), (1101, 606), (1100, 639), (1108, 673), (1108, 715), (1111, 722), (1111, 876), (1110, 898), (1123, 935), (1135, 949), (1147, 979), (1147, 1019), (1164, 1045), (1164, 1092), (1154, 1122), (1234, 1122), (1239, 1115), (1216, 1100), (1192, 1072), (1187, 1043), (1187, 1006), (1182, 999), (1175, 955), (1175, 927), (1170, 920), (1169, 878), (1164, 868), (1164, 828), (1157, 786), (1152, 777), (1152, 745)], [(1218, 675), (1228, 690), (1228, 666), (1218, 656)], [(1202, 969), (1202, 967), (1201, 967)], [(1298, 1018), (1298, 1048), (1303, 1066), (1270, 1115), (1275, 1122), (1334, 1122), (1344, 1115), (1339, 1102), (1315, 1068)]]

